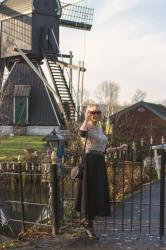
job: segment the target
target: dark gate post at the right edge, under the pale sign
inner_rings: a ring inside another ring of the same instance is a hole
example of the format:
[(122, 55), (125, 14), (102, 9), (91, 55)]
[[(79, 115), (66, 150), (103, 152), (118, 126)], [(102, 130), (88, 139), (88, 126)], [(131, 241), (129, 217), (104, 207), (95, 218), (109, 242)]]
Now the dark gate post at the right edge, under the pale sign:
[(164, 236), (165, 163), (165, 150), (162, 149), (160, 170), (160, 239)]

